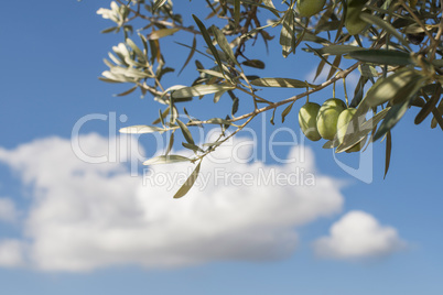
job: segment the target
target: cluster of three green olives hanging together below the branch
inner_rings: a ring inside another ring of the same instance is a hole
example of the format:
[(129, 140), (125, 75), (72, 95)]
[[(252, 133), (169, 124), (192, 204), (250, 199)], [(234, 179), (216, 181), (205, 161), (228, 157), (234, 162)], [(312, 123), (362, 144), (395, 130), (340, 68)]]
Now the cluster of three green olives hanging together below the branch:
[[(346, 103), (337, 98), (327, 99), (322, 106), (315, 102), (306, 102), (299, 111), (299, 123), (303, 134), (312, 140), (337, 141), (339, 145), (346, 135), (348, 124), (357, 109), (347, 108)], [(347, 150), (358, 152), (366, 139)]]

